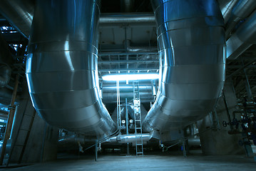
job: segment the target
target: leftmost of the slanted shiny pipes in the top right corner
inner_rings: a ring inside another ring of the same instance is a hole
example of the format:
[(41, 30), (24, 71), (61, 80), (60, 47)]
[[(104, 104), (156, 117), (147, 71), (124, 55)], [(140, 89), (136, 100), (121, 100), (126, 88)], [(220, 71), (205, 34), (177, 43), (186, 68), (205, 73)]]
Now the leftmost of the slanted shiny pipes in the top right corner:
[(232, 8), (238, 0), (219, 0), (220, 11), (222, 13), (225, 23), (230, 19)]

